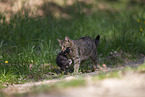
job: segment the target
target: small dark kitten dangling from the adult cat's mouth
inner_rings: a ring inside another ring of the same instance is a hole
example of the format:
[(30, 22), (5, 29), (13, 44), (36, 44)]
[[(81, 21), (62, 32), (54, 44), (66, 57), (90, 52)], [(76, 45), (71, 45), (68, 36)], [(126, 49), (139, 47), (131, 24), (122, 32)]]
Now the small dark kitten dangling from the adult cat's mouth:
[(56, 57), (56, 64), (60, 67), (62, 71), (72, 72), (69, 65), (72, 63), (71, 59), (68, 59), (67, 54), (70, 52), (70, 47), (67, 47), (65, 51), (60, 51)]

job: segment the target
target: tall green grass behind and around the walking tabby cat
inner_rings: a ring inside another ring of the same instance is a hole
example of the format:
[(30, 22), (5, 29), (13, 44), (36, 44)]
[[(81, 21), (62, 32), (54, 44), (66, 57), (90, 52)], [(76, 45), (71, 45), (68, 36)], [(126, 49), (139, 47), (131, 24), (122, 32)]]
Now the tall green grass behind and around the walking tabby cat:
[[(0, 88), (28, 80), (59, 77), (55, 63), (60, 51), (57, 38), (64, 39), (65, 36), (95, 38), (99, 34), (100, 64), (115, 65), (126, 58), (145, 54), (144, 5), (133, 5), (129, 0), (94, 2), (59, 6), (70, 18), (56, 18), (53, 11), (48, 15), (46, 5), (41, 6), (44, 16), (33, 16), (33, 12), (25, 7), (12, 14), (9, 21), (4, 13), (0, 13)], [(108, 8), (96, 8), (99, 4), (107, 4)], [(83, 12), (84, 8), (91, 13)], [(89, 66), (85, 69), (89, 70)]]

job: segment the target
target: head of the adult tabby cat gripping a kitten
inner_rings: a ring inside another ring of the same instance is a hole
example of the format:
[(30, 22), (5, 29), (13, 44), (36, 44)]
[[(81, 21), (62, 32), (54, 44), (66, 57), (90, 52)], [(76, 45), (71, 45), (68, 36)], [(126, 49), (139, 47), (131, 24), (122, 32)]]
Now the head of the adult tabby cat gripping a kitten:
[(73, 41), (69, 39), (69, 37), (65, 37), (64, 40), (57, 39), (59, 42), (59, 46), (61, 47), (61, 51), (67, 50), (68, 47), (72, 47)]

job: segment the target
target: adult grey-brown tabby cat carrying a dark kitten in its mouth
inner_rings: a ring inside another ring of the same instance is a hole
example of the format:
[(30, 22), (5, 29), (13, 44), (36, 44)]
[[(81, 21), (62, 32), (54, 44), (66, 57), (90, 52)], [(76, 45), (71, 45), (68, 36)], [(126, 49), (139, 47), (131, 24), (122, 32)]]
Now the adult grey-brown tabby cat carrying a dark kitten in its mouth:
[(74, 62), (72, 64), (74, 73), (78, 73), (80, 65), (82, 66), (84, 61), (88, 58), (92, 59), (94, 70), (101, 68), (97, 65), (97, 47), (99, 45), (99, 40), (100, 35), (98, 35), (94, 40), (89, 36), (76, 40), (71, 40), (67, 36), (64, 40), (58, 39), (61, 51), (65, 51), (67, 47), (70, 47), (70, 53), (67, 57), (71, 58)]

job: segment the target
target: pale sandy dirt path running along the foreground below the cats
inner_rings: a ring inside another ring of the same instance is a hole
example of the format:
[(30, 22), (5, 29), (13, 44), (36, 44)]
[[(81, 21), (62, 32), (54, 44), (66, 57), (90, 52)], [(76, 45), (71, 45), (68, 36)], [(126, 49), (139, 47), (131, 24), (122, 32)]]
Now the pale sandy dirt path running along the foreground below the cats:
[[(123, 64), (125, 66), (137, 67), (144, 62), (144, 58), (141, 58), (134, 62), (129, 62), (127, 64)], [(107, 69), (105, 71), (111, 70), (121, 70), (124, 66), (116, 67), (113, 69)], [(92, 72), (92, 73), (84, 73), (81, 76), (84, 76), (86, 79), (86, 86), (78, 87), (78, 88), (68, 88), (64, 90), (60, 90), (53, 93), (42, 93), (37, 95), (31, 95), (26, 97), (145, 97), (145, 73), (139, 72), (126, 72), (121, 79), (118, 78), (110, 78), (104, 79), (101, 81), (93, 81), (92, 75), (97, 75), (100, 73)], [(45, 84), (54, 84), (59, 81), (67, 81), (71, 79), (76, 79), (77, 76), (65, 76), (60, 79), (52, 79), (52, 80), (44, 80), (41, 82), (30, 82), (25, 84), (18, 84), (14, 86), (10, 86), (8, 88), (3, 89), (2, 91), (6, 94), (14, 94), (14, 93), (27, 93), (31, 91), (31, 87), (45, 85)], [(24, 96), (25, 97), (25, 96)]]

